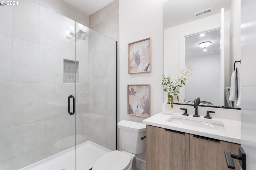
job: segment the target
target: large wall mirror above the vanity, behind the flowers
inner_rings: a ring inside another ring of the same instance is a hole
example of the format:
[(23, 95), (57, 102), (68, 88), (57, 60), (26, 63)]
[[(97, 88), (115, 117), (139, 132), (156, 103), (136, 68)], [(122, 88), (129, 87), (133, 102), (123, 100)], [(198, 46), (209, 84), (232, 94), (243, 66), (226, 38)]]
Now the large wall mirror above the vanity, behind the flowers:
[[(185, 65), (193, 68), (186, 87), (180, 89), (180, 103), (200, 97), (212, 106), (232, 107), (224, 104), (224, 89), (230, 87), (233, 67), (229, 53), (230, 4), (231, 0), (164, 3), (164, 74), (175, 78)], [(202, 33), (204, 37), (200, 37)], [(207, 51), (199, 47), (201, 42), (211, 42)]]

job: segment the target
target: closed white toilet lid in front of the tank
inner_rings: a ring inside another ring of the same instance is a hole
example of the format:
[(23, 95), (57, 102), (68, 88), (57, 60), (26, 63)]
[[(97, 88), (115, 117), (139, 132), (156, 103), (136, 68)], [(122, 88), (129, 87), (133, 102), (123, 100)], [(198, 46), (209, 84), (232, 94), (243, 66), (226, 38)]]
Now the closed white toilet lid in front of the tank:
[(93, 170), (126, 170), (131, 164), (131, 156), (114, 150), (100, 157), (92, 167)]

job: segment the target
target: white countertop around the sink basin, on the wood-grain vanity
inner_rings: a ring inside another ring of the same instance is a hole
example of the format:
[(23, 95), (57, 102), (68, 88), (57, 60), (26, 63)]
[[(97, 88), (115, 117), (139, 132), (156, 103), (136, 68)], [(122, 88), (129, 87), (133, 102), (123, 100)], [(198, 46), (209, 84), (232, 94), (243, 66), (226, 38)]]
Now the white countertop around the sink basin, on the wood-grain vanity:
[(170, 120), (171, 117), (175, 117), (175, 116), (182, 116), (182, 117), (187, 117), (188, 119), (207, 121), (206, 118), (204, 118), (204, 116), (200, 116), (200, 117), (193, 117), (193, 115), (183, 116), (180, 113), (166, 115), (161, 112), (143, 120), (143, 123), (146, 125), (152, 125), (155, 127), (167, 128), (171, 130), (177, 130), (180, 132), (186, 132), (186, 133), (196, 134), (196, 135), (205, 136), (209, 138), (215, 138), (215, 139), (224, 140), (227, 142), (233, 142), (237, 144), (241, 143), (241, 121), (212, 117), (212, 119), (210, 120), (220, 121), (220, 122), (223, 122), (224, 124), (224, 130), (213, 130), (213, 129), (207, 129), (202, 127), (181, 125), (179, 123), (168, 122), (168, 120)]

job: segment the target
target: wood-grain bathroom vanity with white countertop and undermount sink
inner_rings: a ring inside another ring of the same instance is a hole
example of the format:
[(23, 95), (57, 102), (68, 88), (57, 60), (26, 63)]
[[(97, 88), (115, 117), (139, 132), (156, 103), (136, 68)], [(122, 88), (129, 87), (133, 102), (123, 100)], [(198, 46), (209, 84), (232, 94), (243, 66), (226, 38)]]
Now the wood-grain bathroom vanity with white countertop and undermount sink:
[(229, 170), (224, 152), (238, 153), (240, 146), (237, 120), (158, 113), (143, 123), (146, 170)]

